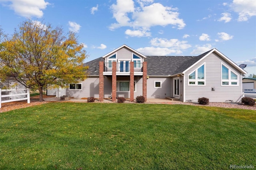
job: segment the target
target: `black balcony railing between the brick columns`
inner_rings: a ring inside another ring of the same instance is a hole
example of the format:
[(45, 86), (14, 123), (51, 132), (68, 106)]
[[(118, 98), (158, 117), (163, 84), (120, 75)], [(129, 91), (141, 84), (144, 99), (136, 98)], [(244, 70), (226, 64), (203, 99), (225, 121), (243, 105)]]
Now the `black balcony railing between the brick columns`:
[[(104, 63), (104, 71), (112, 72), (112, 63)], [(116, 63), (117, 72), (130, 72), (130, 63), (128, 61)], [(134, 63), (134, 72), (143, 72), (143, 63)]]

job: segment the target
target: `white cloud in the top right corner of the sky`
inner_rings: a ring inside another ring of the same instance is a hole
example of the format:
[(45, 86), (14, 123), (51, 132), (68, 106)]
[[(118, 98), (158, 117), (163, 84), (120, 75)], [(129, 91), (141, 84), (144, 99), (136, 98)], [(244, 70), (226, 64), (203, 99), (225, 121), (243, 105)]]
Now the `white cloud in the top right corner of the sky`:
[(233, 0), (230, 7), (238, 13), (238, 21), (247, 21), (256, 16), (256, 0)]

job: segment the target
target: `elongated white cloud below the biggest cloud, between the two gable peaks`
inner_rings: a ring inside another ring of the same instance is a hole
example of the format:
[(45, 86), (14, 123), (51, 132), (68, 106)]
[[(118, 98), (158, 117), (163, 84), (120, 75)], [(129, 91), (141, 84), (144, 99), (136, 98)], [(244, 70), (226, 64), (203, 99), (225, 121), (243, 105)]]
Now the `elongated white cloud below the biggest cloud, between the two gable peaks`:
[(172, 48), (174, 50), (187, 49), (187, 48), (191, 47), (191, 45), (188, 44), (187, 41), (179, 41), (178, 39), (167, 40), (165, 38), (153, 38), (150, 41), (150, 43), (151, 43), (151, 45), (154, 45), (157, 47)]

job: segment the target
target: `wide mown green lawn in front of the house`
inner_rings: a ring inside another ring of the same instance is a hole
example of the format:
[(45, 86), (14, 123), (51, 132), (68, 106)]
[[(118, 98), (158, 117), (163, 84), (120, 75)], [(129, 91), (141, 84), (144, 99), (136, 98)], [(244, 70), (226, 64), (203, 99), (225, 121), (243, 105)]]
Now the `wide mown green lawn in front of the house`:
[(255, 168), (255, 120), (242, 109), (47, 103), (0, 113), (0, 169)]

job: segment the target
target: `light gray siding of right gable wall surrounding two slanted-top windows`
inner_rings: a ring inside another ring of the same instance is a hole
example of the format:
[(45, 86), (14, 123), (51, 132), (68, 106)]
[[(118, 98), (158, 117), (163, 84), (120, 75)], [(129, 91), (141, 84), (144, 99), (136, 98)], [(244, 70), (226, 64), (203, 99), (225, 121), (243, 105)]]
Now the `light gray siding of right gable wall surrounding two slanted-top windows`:
[[(188, 75), (196, 68), (205, 63), (205, 86), (203, 85), (188, 85)], [(226, 65), (231, 71), (238, 75), (238, 86), (222, 86), (221, 82), (221, 66), (222, 63)], [(189, 69), (184, 75), (185, 81), (185, 101), (198, 100), (199, 97), (207, 97), (210, 102), (225, 102), (232, 100), (239, 102), (242, 97), (241, 93), (241, 73), (228, 62), (218, 56), (216, 53), (208, 55), (205, 59), (200, 61), (194, 67)], [(214, 87), (215, 91), (211, 91)]]

